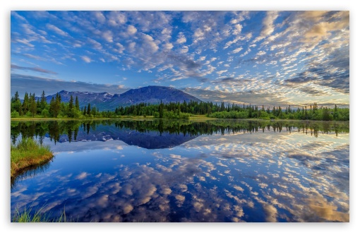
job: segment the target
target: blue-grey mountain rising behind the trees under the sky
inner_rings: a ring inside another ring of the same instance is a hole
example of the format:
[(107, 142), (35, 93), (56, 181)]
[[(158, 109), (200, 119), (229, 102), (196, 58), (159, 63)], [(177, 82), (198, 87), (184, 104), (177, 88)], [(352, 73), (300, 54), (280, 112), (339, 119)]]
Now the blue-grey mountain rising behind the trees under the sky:
[[(84, 107), (90, 103), (91, 107), (95, 106), (99, 108), (100, 111), (114, 111), (114, 109), (119, 106), (126, 107), (142, 102), (150, 104), (160, 104), (160, 102), (190, 102), (191, 100), (202, 102), (193, 95), (189, 95), (188, 93), (177, 90), (176, 88), (156, 85), (131, 89), (122, 94), (111, 94), (108, 92), (68, 92), (66, 90), (61, 90), (59, 95), (61, 95), (62, 102), (68, 102), (71, 95), (73, 95), (73, 100), (75, 101), (76, 96), (78, 96), (80, 107)], [(52, 100), (52, 97), (55, 96), (56, 94), (48, 95), (47, 102), (49, 103), (50, 100)]]

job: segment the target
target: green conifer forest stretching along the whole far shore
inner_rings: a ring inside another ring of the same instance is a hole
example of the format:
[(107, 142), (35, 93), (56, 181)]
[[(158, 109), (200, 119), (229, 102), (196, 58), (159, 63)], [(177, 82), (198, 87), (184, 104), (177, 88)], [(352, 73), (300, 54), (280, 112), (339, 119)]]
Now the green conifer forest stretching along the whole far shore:
[(113, 118), (121, 116), (153, 116), (160, 119), (189, 119), (193, 115), (205, 115), (218, 119), (297, 119), (320, 121), (349, 121), (349, 108), (334, 108), (318, 106), (316, 102), (309, 106), (294, 108), (291, 105), (282, 109), (281, 106), (258, 107), (251, 104), (221, 104), (212, 102), (170, 102), (160, 104), (135, 104), (119, 106), (114, 111), (100, 111), (90, 103), (80, 107), (78, 97), (71, 95), (68, 102), (62, 102), (61, 96), (56, 94), (47, 103), (44, 91), (40, 98), (35, 93), (25, 92), (23, 101), (18, 92), (11, 97), (11, 118), (19, 117), (53, 117), (53, 118)]

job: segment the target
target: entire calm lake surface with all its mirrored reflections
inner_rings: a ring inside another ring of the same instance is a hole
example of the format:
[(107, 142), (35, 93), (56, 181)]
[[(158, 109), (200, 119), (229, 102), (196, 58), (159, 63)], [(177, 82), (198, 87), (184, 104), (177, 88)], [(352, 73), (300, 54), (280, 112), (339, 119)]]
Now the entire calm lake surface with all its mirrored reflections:
[(349, 222), (349, 122), (11, 121), (54, 159), (11, 212), (76, 222)]

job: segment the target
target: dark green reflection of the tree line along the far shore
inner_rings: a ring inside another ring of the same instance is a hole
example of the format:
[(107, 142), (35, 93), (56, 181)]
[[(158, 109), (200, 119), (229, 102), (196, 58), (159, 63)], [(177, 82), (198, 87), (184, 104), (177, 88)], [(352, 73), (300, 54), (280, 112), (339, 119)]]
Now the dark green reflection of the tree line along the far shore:
[(116, 129), (131, 129), (140, 133), (158, 131), (162, 133), (188, 134), (189, 136), (221, 135), (229, 133), (258, 133), (273, 131), (281, 133), (297, 131), (310, 136), (320, 134), (349, 133), (349, 122), (339, 121), (246, 121), (246, 120), (215, 120), (205, 122), (191, 122), (179, 120), (153, 121), (11, 121), (11, 141), (16, 143), (21, 135), (23, 138), (36, 137), (42, 144), (47, 136), (54, 143), (60, 141), (60, 136), (67, 135), (68, 142), (76, 141), (78, 131), (87, 134), (96, 131), (99, 126), (113, 126)]

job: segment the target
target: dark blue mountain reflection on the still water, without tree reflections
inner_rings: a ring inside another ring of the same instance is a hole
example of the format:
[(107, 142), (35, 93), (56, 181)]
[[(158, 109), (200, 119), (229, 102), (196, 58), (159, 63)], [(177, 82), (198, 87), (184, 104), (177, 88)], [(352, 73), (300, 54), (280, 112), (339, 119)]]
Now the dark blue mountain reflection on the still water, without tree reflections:
[[(78, 131), (76, 141), (110, 141), (120, 140), (128, 145), (137, 145), (146, 149), (173, 148), (191, 141), (198, 136), (188, 133), (160, 133), (158, 131), (139, 132), (132, 129), (116, 129), (114, 126), (99, 126), (96, 131)], [(68, 142), (68, 136), (62, 135), (59, 143)]]

